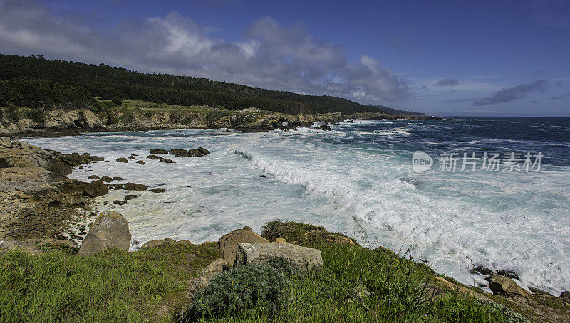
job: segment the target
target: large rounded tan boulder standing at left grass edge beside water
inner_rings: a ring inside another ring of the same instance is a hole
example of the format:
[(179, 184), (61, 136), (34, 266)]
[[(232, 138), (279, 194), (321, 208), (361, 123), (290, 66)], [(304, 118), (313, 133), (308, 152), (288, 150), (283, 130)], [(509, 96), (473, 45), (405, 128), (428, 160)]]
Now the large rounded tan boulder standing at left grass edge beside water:
[(107, 211), (101, 213), (90, 226), (78, 254), (93, 255), (114, 247), (127, 251), (129, 245), (129, 223), (120, 213)]

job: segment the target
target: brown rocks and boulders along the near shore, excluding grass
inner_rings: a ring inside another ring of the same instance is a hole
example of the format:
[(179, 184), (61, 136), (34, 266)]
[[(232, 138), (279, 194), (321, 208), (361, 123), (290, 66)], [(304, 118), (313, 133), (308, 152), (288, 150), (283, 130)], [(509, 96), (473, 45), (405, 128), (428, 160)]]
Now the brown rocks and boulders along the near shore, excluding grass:
[[(195, 158), (207, 154), (209, 151), (203, 147), (165, 147), (152, 149), (146, 159), (167, 162), (170, 159), (158, 155)], [(119, 159), (118, 162), (140, 164), (144, 157), (131, 155)], [(120, 213), (113, 211), (99, 215), (93, 213), (92, 200), (107, 194), (111, 189), (136, 192), (145, 191), (148, 187), (137, 183), (116, 183), (124, 180), (119, 177), (99, 178), (92, 175), (89, 177), (92, 179), (90, 182), (67, 177), (73, 168), (90, 167), (93, 162), (105, 161), (88, 153), (61, 154), (18, 140), (0, 139), (0, 254), (11, 249), (41, 254), (46, 246), (50, 245), (76, 249), (79, 255), (93, 255), (106, 248), (127, 251), (131, 243), (128, 221)], [(161, 188), (150, 189), (155, 193), (160, 193), (161, 190), (164, 191)], [(113, 203), (128, 203), (136, 197), (136, 194), (126, 194), (123, 200)], [(81, 219), (86, 218), (90, 218), (91, 223), (81, 222)], [(215, 275), (228, 268), (252, 262), (267, 263), (276, 257), (285, 258), (297, 268), (318, 270), (323, 266), (321, 252), (303, 247), (307, 245), (332, 243), (363, 248), (346, 235), (331, 233), (323, 227), (300, 223), (283, 224), (280, 221), (271, 223), (266, 224), (266, 233), (263, 236), (254, 233), (249, 227), (223, 235), (216, 243), (220, 258), (202, 270), (202, 274), (192, 282), (192, 288), (199, 290), (206, 287)], [(81, 248), (78, 248), (81, 240)], [(187, 240), (164, 239), (147, 241), (140, 249), (180, 244), (192, 245)], [(395, 255), (385, 247), (378, 247), (377, 251)], [(306, 259), (312, 262), (306, 263)], [(446, 290), (455, 290), (488, 302), (504, 299), (532, 313), (532, 317), (540, 322), (562, 322), (564, 315), (570, 314), (569, 292), (563, 292), (556, 297), (537, 288), (525, 290), (517, 285), (515, 280), (518, 277), (513, 272), (493, 272), (488, 268), (475, 268), (474, 274), (488, 276), (486, 280), (494, 295), (484, 293), (478, 288), (460, 285), (441, 275), (437, 277), (434, 285), (425, 288), (431, 290), (434, 295), (445, 295)]]

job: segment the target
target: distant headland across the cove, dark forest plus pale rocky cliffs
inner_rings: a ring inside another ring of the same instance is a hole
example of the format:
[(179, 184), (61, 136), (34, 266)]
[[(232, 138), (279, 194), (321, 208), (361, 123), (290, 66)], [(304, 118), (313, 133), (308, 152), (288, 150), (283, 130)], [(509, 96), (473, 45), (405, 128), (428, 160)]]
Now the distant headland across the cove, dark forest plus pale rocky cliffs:
[(265, 132), (353, 119), (441, 120), (326, 95), (0, 54), (0, 136), (184, 128)]

